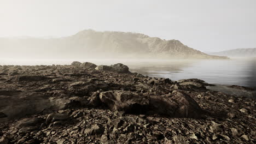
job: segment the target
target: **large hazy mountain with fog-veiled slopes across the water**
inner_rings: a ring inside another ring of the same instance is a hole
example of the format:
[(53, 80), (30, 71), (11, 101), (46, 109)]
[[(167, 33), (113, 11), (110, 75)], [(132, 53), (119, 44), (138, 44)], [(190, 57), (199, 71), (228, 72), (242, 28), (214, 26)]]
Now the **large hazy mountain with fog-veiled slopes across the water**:
[[(227, 58), (210, 56), (178, 40), (91, 29), (62, 38), (0, 38), (2, 56), (36, 58)], [(1, 54), (0, 54), (1, 56)]]

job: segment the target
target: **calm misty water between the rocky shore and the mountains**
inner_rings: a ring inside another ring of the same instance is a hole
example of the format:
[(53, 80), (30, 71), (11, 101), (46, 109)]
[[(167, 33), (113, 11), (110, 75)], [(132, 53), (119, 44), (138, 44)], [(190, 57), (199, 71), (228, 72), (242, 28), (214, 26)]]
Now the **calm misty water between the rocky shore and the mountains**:
[(56, 60), (2, 60), (0, 65), (51, 65), (70, 64), (73, 61), (92, 62), (100, 64), (123, 63), (129, 66), (130, 71), (153, 77), (166, 77), (171, 80), (202, 79), (208, 83), (224, 85), (241, 85), (256, 87), (256, 59), (229, 59), (229, 60), (170, 60), (155, 61), (144, 59), (66, 59)]

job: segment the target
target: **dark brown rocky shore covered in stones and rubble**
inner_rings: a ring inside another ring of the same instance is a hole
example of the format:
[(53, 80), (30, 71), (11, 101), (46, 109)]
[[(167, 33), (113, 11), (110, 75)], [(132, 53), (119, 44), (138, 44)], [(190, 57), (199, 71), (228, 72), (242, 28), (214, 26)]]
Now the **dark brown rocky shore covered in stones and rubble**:
[(255, 99), (207, 86), (123, 64), (3, 65), (0, 143), (256, 143)]

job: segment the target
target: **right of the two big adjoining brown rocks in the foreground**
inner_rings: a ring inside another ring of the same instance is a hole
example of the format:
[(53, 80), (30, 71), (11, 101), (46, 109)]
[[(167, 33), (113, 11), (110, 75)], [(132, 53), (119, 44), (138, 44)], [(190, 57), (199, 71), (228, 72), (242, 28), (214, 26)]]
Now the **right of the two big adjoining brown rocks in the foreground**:
[(169, 117), (200, 118), (202, 112), (196, 101), (182, 92), (174, 92), (172, 95), (151, 95), (150, 107), (154, 113)]

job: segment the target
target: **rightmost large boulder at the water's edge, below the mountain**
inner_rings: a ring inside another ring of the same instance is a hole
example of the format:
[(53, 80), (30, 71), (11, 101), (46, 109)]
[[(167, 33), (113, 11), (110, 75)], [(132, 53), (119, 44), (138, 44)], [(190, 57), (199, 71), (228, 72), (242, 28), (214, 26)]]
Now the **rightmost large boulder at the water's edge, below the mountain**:
[(127, 67), (127, 65), (121, 64), (121, 63), (117, 63), (114, 65), (98, 65), (98, 67), (95, 68), (96, 70), (104, 70), (104, 71), (113, 71), (115, 73), (131, 73), (129, 71), (129, 68)]

